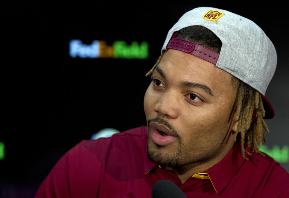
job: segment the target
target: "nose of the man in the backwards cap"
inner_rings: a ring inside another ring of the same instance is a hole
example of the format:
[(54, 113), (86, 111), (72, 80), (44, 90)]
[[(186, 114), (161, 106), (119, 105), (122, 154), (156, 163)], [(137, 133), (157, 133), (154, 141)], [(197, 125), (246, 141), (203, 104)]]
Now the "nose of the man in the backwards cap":
[(176, 119), (179, 115), (178, 97), (172, 90), (163, 92), (154, 106), (154, 111), (158, 116)]

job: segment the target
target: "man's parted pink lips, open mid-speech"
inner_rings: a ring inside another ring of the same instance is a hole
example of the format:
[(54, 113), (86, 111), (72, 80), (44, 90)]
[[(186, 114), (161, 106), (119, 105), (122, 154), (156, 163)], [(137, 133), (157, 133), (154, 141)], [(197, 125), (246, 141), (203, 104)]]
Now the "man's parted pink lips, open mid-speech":
[(177, 139), (172, 131), (163, 124), (151, 122), (149, 127), (151, 127), (151, 139), (158, 145), (164, 146), (174, 142)]

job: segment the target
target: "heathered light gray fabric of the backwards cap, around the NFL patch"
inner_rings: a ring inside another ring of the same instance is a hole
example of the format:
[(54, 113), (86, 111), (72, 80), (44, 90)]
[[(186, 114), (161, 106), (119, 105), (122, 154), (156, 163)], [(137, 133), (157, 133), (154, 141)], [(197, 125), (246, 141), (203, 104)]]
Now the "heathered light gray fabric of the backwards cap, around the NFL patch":
[[(217, 10), (224, 15), (216, 21), (204, 19), (204, 14), (210, 10)], [(185, 13), (169, 30), (162, 52), (167, 50), (166, 46), (174, 32), (194, 25), (208, 28), (222, 41), (216, 67), (227, 71), (265, 95), (276, 69), (277, 54), (274, 45), (258, 25), (222, 9), (195, 8)]]

